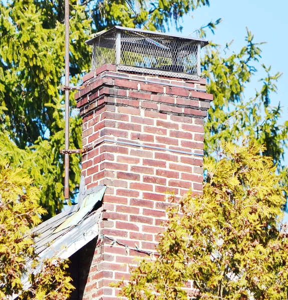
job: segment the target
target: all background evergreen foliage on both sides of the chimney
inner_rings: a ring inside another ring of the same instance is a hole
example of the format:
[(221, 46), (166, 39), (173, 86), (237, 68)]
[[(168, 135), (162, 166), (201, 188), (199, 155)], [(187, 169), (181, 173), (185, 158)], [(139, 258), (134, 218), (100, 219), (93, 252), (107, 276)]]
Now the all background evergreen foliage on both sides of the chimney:
[[(181, 17), (203, 5), (209, 5), (209, 1), (71, 0), (71, 84), (79, 84), (81, 75), (90, 69), (91, 52), (84, 41), (91, 33), (115, 24), (145, 25), (151, 30), (167, 30), (173, 25), (181, 30)], [(209, 22), (198, 34), (205, 35), (207, 28), (214, 31), (219, 22), (220, 19)], [(228, 46), (221, 50), (215, 44), (205, 47), (205, 51), (203, 75), (208, 77), (208, 92), (214, 94), (205, 125), (206, 154), (211, 154), (219, 138), (234, 140), (237, 132), (245, 130), (245, 134), (265, 145), (264, 154), (273, 157), (285, 177), (283, 152), (288, 124), (278, 123), (280, 105), (272, 107), (269, 103), (280, 74), (271, 75), (264, 66), (267, 76), (262, 79), (263, 88), (245, 101), (245, 86), (257, 74), (260, 44), (248, 31), (238, 53), (229, 52)], [(19, 148), (16, 153), (23, 153), (29, 161), (38, 160), (38, 169), (27, 164), (27, 171), (41, 188), (40, 203), (48, 210), (45, 217), (50, 217), (61, 211), (64, 203), (60, 154), (64, 148), (64, 97), (60, 90), (64, 75), (64, 1), (1, 1), (0, 57), (0, 130)], [(70, 144), (81, 148), (81, 119), (75, 111), (73, 93), (70, 103)], [(79, 187), (80, 159), (78, 154), (70, 156), (72, 201)]]

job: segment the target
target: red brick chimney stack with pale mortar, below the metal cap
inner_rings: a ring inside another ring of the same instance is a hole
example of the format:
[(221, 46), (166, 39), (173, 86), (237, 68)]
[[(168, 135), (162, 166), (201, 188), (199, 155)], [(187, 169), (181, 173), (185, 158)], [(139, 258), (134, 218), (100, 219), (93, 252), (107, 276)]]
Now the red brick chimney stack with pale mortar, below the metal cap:
[[(203, 123), (212, 95), (193, 89), (195, 83), (205, 89), (203, 79), (135, 75), (117, 72), (114, 65), (104, 65), (84, 80), (85, 87), (76, 94), (88, 149), (82, 175), (87, 188), (107, 185), (100, 234), (154, 251), (169, 194), (202, 190), (203, 160), (191, 152), (203, 154)], [(87, 300), (116, 299), (109, 282), (129, 278), (127, 263), (145, 255), (110, 243), (104, 237), (96, 247)]]

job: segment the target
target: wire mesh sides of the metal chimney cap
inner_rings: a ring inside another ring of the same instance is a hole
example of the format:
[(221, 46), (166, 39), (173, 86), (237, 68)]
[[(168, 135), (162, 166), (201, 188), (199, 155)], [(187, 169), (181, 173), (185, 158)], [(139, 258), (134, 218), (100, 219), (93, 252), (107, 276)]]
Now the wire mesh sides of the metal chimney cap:
[(149, 31), (109, 30), (94, 39), (92, 69), (118, 62), (122, 70), (195, 79), (200, 75), (199, 45), (198, 40)]

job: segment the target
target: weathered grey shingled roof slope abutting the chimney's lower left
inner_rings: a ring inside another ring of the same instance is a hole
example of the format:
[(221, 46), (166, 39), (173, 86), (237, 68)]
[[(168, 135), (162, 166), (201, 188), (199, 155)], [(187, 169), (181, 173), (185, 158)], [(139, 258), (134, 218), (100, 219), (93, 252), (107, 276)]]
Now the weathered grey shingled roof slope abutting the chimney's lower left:
[(98, 235), (100, 212), (93, 210), (102, 200), (106, 186), (86, 190), (77, 205), (48, 219), (33, 229), (35, 250), (40, 258), (68, 258)]

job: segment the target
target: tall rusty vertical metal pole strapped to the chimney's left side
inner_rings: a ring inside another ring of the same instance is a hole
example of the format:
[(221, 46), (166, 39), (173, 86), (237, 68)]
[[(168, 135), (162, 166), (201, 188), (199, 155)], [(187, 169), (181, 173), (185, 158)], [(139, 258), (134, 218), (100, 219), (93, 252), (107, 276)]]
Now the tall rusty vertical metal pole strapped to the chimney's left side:
[[(65, 0), (65, 150), (69, 149), (69, 0)], [(69, 199), (69, 154), (64, 154), (65, 159), (65, 178), (64, 178), (64, 197)]]

